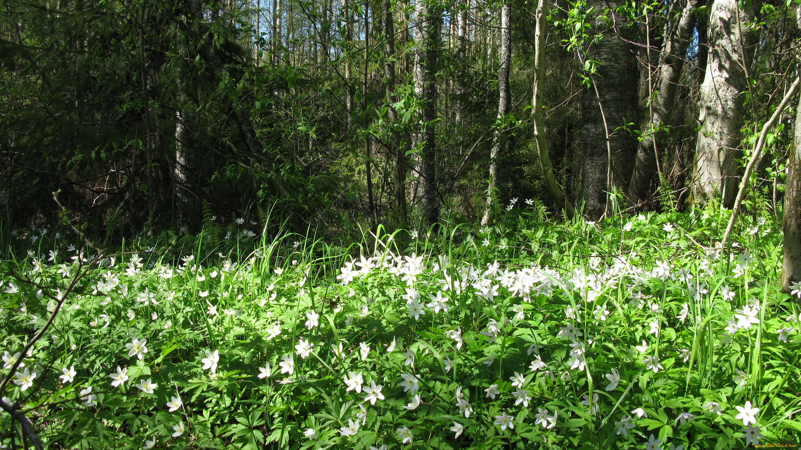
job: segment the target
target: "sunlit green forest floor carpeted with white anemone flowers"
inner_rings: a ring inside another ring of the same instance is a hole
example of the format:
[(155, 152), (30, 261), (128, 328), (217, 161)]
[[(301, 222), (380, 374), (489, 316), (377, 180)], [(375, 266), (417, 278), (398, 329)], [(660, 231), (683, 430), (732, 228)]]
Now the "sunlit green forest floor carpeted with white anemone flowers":
[(781, 227), (747, 218), (722, 255), (728, 214), (529, 207), (402, 248), (239, 233), (97, 259), (42, 234), (5, 266), (2, 395), (47, 448), (796, 443)]

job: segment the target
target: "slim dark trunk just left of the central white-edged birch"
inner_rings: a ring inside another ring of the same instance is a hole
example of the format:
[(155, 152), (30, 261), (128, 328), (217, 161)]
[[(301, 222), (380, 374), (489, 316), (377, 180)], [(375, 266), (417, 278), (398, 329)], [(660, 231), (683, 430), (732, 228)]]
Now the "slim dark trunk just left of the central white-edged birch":
[(406, 153), (400, 147), (400, 133), (397, 129), (397, 118), (395, 115), (395, 108), (392, 103), (395, 102), (395, 21), (392, 12), (392, 3), (390, 0), (384, 0), (384, 54), (386, 60), (384, 62), (384, 81), (388, 106), (389, 126), (392, 127), (390, 131), (390, 138), (388, 143), (389, 157), (394, 158), (392, 161), (392, 172), (395, 178), (395, 208), (398, 215), (400, 215), (400, 227), (407, 227), (409, 223), (408, 212), (406, 211)]

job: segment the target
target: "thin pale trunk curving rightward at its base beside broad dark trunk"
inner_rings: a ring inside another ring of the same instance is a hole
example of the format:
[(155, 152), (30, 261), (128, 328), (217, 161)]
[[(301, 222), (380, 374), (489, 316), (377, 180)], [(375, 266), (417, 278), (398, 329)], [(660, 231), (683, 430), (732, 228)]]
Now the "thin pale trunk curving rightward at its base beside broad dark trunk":
[(548, 187), (548, 191), (556, 201), (557, 207), (565, 208), (565, 214), (569, 219), (572, 219), (575, 215), (573, 203), (568, 201), (567, 196), (562, 192), (562, 188), (559, 187), (559, 183), (557, 183), (556, 177), (553, 175), (553, 167), (548, 155), (548, 140), (545, 139), (545, 117), (543, 114), (545, 106), (542, 104), (542, 88), (545, 85), (545, 41), (547, 36), (545, 33), (545, 18), (548, 15), (547, 8), (545, 0), (537, 2), (537, 27), (534, 29), (534, 50), (537, 53), (534, 56), (534, 91), (532, 95), (534, 136), (536, 137), (537, 155), (539, 155), (542, 176), (545, 178), (545, 186)]

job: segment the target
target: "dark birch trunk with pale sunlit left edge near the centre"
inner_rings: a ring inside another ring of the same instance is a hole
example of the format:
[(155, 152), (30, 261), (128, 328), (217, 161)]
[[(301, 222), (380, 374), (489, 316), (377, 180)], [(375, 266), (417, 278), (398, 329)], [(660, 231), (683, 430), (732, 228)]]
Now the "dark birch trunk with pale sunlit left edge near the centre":
[[(439, 50), (442, 14), (440, 6), (423, 0), (415, 6), (417, 36), (415, 54), (415, 91), (422, 106), (423, 129), (417, 135), (417, 195), (421, 197), (425, 222), (431, 226), (439, 219), (439, 199), (434, 171), (435, 126), (437, 119), (437, 53)], [(416, 196), (417, 196), (416, 195)]]

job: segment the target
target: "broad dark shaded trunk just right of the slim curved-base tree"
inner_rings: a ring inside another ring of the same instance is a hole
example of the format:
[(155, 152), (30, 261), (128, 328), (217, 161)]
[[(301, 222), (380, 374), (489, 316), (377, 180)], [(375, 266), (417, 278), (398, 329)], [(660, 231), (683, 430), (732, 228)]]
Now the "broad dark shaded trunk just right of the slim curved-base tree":
[[(600, 14), (606, 3), (590, 6)], [(582, 183), (586, 215), (598, 220), (612, 212), (608, 193), (615, 187), (625, 190), (631, 179), (637, 139), (618, 128), (638, 118), (639, 71), (633, 46), (606, 20), (596, 19), (590, 33), (602, 38), (586, 56), (598, 67), (582, 98)]]

